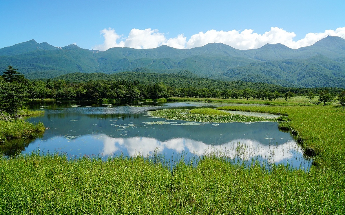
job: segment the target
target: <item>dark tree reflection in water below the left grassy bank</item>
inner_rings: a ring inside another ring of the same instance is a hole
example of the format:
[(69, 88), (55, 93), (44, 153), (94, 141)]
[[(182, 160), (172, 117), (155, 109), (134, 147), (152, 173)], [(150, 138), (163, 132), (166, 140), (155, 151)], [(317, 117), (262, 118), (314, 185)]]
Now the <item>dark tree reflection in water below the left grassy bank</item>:
[[(41, 138), (43, 133), (39, 134)], [(12, 140), (8, 140), (5, 144), (0, 145), (0, 153), (7, 156), (7, 157), (14, 157), (20, 154), (22, 151), (25, 150), (29, 144), (34, 141), (36, 138), (32, 139), (24, 139), (24, 138), (16, 138)]]

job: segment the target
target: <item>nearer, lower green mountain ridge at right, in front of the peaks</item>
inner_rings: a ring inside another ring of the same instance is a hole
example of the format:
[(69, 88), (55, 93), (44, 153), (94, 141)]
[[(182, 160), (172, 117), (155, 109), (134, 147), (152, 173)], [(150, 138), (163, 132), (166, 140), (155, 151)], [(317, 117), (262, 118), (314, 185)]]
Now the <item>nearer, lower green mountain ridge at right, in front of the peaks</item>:
[(303, 60), (251, 63), (229, 69), (224, 76), (230, 80), (265, 82), (282, 86), (345, 88), (345, 65), (323, 55)]

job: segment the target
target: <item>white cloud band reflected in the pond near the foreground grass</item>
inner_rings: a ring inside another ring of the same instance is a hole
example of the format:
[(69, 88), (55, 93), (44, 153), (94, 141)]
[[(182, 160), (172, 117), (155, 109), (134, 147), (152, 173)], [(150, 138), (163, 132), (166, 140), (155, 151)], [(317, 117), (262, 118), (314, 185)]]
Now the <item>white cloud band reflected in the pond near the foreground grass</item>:
[(287, 141), (283, 144), (264, 145), (258, 141), (249, 139), (235, 139), (220, 145), (207, 145), (201, 141), (188, 138), (174, 138), (167, 141), (159, 141), (149, 137), (111, 138), (100, 135), (97, 139), (103, 140), (103, 155), (111, 155), (127, 151), (128, 155), (147, 154), (158, 150), (172, 150), (174, 152), (188, 152), (196, 155), (221, 152), (222, 156), (234, 158), (236, 155), (242, 159), (261, 156), (268, 161), (280, 162), (290, 159), (296, 153), (302, 153), (295, 141)]

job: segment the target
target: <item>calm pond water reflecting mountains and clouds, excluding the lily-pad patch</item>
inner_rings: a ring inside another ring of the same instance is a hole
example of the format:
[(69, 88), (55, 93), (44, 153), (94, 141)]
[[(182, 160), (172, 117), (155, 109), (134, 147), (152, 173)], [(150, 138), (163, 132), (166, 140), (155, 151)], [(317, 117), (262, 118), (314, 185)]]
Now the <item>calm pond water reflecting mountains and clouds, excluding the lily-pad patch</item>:
[[(22, 153), (64, 152), (69, 156), (149, 156), (167, 158), (217, 152), (228, 158), (259, 159), (308, 169), (311, 161), (290, 133), (279, 131), (277, 122), (187, 122), (152, 118), (148, 110), (200, 108), (199, 103), (115, 103), (90, 101), (29, 102), (30, 109), (44, 109), (44, 116), (27, 119), (43, 122), (43, 137), (30, 142)], [(207, 104), (210, 106), (210, 104)]]

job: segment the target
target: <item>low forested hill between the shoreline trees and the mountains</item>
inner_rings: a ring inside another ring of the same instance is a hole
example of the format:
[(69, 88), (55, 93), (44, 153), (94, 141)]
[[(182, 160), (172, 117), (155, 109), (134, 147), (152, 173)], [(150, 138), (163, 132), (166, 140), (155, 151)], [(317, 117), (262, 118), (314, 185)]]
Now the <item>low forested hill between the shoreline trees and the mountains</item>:
[[(177, 73), (153, 73), (146, 71), (145, 69), (136, 69), (132, 72), (121, 72), (114, 74), (104, 74), (104, 73), (70, 73), (66, 75), (61, 75), (59, 77), (53, 78), (52, 80), (66, 80), (67, 82), (89, 82), (91, 80), (128, 80), (133, 82), (134, 80), (139, 81), (141, 84), (148, 85), (149, 83), (164, 83), (166, 86), (176, 87), (176, 88), (188, 88), (194, 87), (197, 89), (208, 88), (215, 89), (219, 92), (225, 89), (239, 89), (244, 90), (246, 88), (261, 91), (265, 89), (268, 92), (293, 92), (296, 95), (306, 95), (309, 91), (314, 94), (318, 94), (322, 90), (328, 90), (332, 94), (338, 94), (343, 89), (341, 88), (305, 88), (298, 86), (283, 87), (277, 84), (268, 83), (257, 83), (257, 82), (245, 82), (242, 80), (216, 80), (211, 78), (202, 78), (189, 71), (180, 71)], [(46, 81), (45, 79), (42, 79)]]

